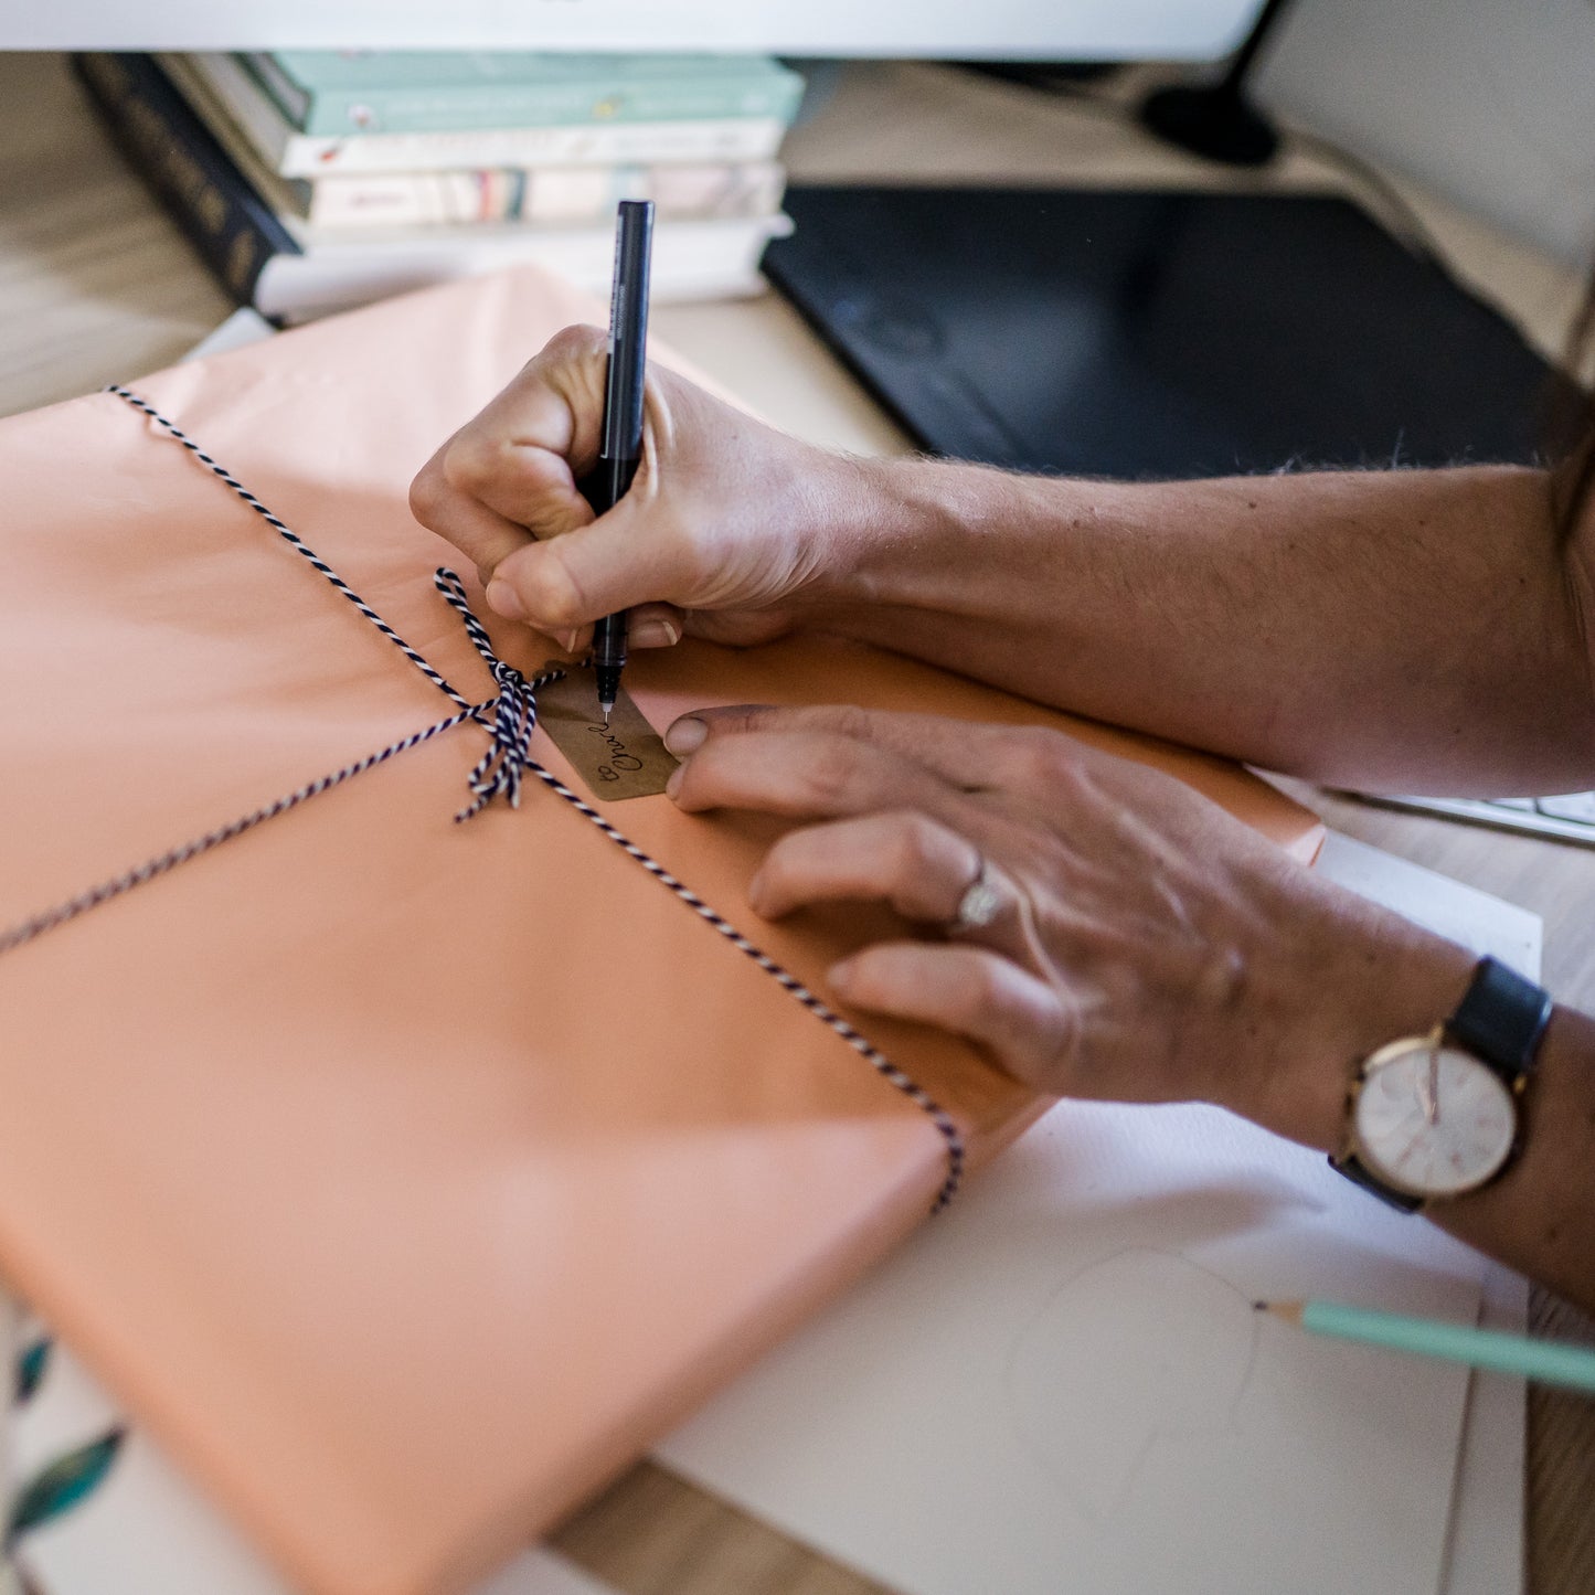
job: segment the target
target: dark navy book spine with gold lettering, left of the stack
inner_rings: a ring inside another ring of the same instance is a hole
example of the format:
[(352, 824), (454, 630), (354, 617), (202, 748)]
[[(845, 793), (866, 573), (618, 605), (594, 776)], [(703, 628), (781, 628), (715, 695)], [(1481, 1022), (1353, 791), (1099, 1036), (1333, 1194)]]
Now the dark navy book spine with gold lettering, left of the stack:
[(73, 70), (118, 148), (239, 305), (298, 244), (147, 56), (91, 53)]

